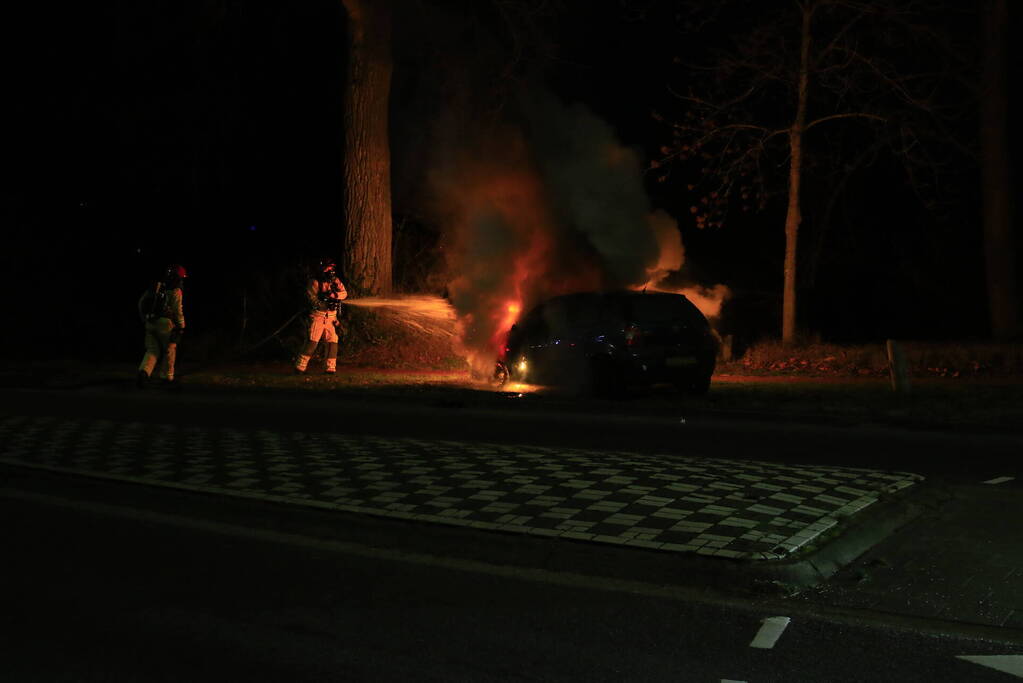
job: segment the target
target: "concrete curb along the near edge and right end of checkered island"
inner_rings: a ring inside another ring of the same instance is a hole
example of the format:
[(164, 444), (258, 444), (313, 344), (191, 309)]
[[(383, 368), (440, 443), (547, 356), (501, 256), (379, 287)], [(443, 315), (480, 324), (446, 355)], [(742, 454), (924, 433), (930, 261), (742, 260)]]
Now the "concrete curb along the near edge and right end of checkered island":
[[(851, 523), (840, 525), (832, 532), (831, 538), (798, 556), (781, 560), (736, 560), (342, 512), (262, 496), (211, 496), (194, 489), (152, 485), (125, 487), (121, 482), (106, 477), (24, 465), (4, 464), (3, 468), (11, 475), (11, 482), (63, 483), (55, 488), (71, 487), (75, 498), (130, 501), (137, 509), (164, 508), (180, 513), (181, 506), (174, 501), (184, 497), (189, 500), (189, 510), (206, 510), (213, 519), (233, 518), (234, 523), (252, 525), (251, 515), (255, 512), (260, 519), (259, 528), (264, 530), (312, 534), (325, 539), (355, 539), (367, 547), (400, 548), (411, 553), (436, 554), (508, 567), (639, 581), (711, 591), (722, 596), (753, 598), (788, 597), (816, 586), (950, 497), (938, 487), (919, 485), (920, 488), (909, 488), (895, 498), (879, 503), (870, 512), (858, 513), (852, 517)], [(38, 486), (30, 486), (29, 490)], [(53, 484), (46, 484), (41, 490), (51, 491)], [(238, 511), (243, 511), (241, 516), (237, 516)], [(430, 527), (429, 534), (410, 533), (410, 530), (427, 525)], [(516, 542), (508, 543), (509, 537)]]

